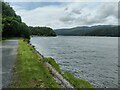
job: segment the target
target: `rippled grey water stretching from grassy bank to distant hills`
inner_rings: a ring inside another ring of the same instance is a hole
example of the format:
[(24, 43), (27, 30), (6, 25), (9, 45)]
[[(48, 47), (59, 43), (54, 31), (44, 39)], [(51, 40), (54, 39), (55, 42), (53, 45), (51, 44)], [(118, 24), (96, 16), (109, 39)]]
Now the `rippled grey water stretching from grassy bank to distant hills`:
[(31, 37), (30, 43), (42, 55), (53, 57), (63, 72), (98, 88), (118, 87), (117, 37)]

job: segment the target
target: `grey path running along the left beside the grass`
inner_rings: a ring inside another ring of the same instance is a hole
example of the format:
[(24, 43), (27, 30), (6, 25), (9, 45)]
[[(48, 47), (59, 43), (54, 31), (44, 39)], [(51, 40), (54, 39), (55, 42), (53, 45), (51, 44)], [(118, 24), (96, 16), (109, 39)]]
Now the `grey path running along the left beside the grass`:
[(0, 72), (0, 77), (2, 76), (2, 88), (7, 88), (10, 84), (12, 69), (16, 61), (17, 47), (17, 39), (6, 40), (0, 45), (0, 51), (2, 51), (2, 55), (0, 56), (0, 58), (2, 57), (2, 60), (0, 60), (2, 62), (0, 64), (0, 67), (2, 67), (2, 72)]

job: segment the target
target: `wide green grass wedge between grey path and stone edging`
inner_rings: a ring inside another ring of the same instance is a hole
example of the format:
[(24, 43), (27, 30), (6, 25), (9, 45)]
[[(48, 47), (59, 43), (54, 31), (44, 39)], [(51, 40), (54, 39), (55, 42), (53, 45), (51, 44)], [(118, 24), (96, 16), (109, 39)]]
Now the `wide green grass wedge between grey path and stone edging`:
[(19, 40), (12, 88), (59, 88), (43, 60), (26, 41)]

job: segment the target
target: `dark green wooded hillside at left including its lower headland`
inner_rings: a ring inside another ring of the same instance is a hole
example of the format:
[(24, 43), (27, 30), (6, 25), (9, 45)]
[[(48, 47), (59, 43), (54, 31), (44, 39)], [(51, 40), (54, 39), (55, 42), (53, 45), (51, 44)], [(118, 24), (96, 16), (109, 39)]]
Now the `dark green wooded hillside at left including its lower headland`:
[(27, 26), (9, 3), (2, 2), (2, 37), (30, 38), (30, 35), (56, 36), (51, 28)]

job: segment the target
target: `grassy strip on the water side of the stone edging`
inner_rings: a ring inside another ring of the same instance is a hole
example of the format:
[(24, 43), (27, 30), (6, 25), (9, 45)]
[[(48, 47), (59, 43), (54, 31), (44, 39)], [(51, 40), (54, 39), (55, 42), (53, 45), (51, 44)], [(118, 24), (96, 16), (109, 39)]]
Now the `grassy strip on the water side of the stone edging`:
[[(50, 63), (61, 74), (62, 71), (54, 59), (49, 57), (49, 58), (45, 58), (45, 61)], [(74, 77), (74, 75), (72, 75), (70, 72), (64, 72), (64, 74), (62, 75), (78, 90), (81, 90), (81, 88), (91, 88), (90, 90), (95, 90), (94, 87), (89, 82)]]

